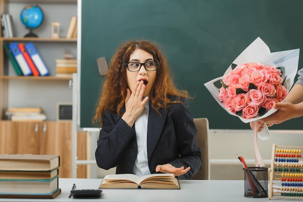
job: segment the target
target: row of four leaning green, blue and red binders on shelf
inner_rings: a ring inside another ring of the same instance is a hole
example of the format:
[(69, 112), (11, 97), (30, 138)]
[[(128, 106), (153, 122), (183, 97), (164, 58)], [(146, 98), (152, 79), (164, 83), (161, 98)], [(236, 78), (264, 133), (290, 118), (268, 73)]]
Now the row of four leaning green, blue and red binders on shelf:
[(28, 44), (4, 43), (3, 48), (12, 62), (17, 76), (49, 75), (48, 68), (32, 42)]

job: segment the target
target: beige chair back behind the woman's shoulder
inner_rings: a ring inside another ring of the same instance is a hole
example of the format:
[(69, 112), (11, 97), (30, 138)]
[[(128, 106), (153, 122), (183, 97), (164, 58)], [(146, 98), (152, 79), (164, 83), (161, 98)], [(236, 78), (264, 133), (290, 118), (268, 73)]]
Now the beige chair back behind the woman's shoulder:
[(210, 165), (210, 148), (209, 148), (209, 123), (207, 118), (196, 118), (194, 123), (197, 127), (197, 143), (202, 155), (202, 169), (197, 172), (192, 180), (210, 180), (211, 165)]

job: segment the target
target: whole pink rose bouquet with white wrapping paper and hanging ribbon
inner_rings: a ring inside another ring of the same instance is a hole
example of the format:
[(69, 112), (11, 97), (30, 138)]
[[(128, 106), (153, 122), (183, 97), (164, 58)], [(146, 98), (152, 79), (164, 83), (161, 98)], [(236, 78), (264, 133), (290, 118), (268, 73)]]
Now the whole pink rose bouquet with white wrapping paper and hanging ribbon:
[[(270, 52), (258, 37), (232, 62), (222, 77), (204, 85), (218, 104), (244, 123), (273, 114), (273, 104), (284, 102), (298, 71), (299, 49)], [(264, 166), (254, 130), (256, 167)], [(270, 138), (265, 125), (258, 137)]]

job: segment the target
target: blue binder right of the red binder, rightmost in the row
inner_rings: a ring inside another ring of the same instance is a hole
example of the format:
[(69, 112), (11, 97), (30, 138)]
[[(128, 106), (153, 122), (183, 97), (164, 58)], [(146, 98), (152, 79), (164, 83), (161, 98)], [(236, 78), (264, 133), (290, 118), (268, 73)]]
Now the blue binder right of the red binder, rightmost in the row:
[(49, 75), (49, 71), (48, 71), (45, 63), (43, 62), (42, 58), (40, 57), (36, 47), (33, 45), (33, 43), (30, 42), (30, 43), (26, 44), (25, 49), (29, 53), (32, 62), (34, 62), (34, 64), (36, 65), (40, 75), (41, 76)]

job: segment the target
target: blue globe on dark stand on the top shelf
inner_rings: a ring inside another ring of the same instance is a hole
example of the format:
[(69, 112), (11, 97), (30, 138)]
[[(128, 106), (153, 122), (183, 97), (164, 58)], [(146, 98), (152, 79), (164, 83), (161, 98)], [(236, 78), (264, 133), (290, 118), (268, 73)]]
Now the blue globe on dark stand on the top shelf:
[(30, 29), (30, 32), (24, 37), (38, 37), (32, 30), (41, 26), (43, 19), (43, 11), (38, 5), (25, 6), (20, 13), (20, 20), (26, 28)]

